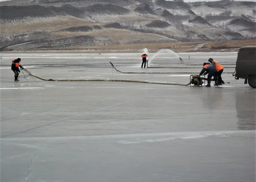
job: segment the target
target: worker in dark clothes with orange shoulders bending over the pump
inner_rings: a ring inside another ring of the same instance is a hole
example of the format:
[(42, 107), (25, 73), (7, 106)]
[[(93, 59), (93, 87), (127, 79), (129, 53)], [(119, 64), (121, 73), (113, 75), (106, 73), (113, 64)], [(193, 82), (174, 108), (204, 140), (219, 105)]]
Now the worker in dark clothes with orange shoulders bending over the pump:
[(211, 78), (213, 76), (213, 79), (215, 81), (214, 85), (218, 86), (218, 75), (217, 75), (217, 69), (212, 66), (210, 63), (203, 63), (203, 69), (202, 71), (199, 73), (199, 76), (201, 75), (207, 75), (208, 73), (208, 77), (207, 77), (207, 85), (205, 85), (205, 87), (211, 87)]

